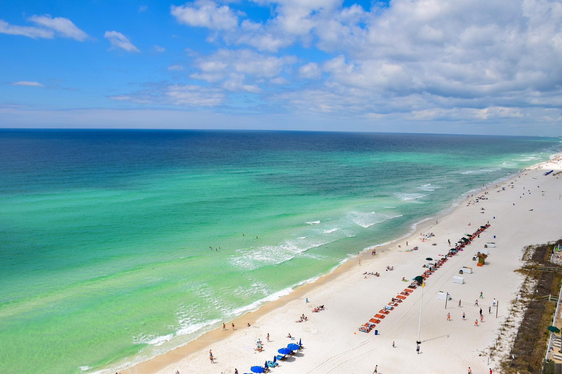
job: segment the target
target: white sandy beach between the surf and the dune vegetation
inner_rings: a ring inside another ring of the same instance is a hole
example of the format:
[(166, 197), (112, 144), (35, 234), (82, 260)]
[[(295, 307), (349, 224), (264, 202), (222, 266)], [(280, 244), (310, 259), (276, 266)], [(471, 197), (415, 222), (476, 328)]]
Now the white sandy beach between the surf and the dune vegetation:
[[(468, 367), (475, 374), (487, 373), (490, 366), (487, 353), (482, 351), (493, 344), (498, 326), (509, 310), (509, 302), (523, 281), (523, 277), (514, 272), (521, 266), (523, 247), (554, 241), (561, 236), (562, 174), (543, 176), (543, 173), (551, 169), (556, 173), (562, 166), (559, 159), (542, 165), (542, 169), (525, 170), (519, 177), (498, 183), (497, 187), (490, 184), (474, 192), (476, 197), (487, 191), (488, 200), (467, 206), (469, 198), (452, 213), (438, 218), (437, 225), (434, 219), (420, 224), (409, 238), (377, 248), (376, 256), (365, 252), (316, 284), (305, 285), (282, 300), (270, 303), (269, 307), (266, 305), (258, 312), (248, 313), (235, 321), (237, 329), (234, 331), (227, 323), (226, 331), (212, 331), (185, 347), (122, 372), (173, 374), (179, 370), (181, 374), (226, 374), (234, 373), (237, 368), (241, 374), (249, 373), (251, 366), (263, 366), (265, 361), (273, 360), (279, 348), (302, 339), (305, 348), (280, 362), (273, 372), (359, 374), (372, 373), (378, 365), (378, 372), (383, 374), (462, 373)], [(501, 191), (501, 187), (506, 190)], [(484, 213), (481, 207), (485, 208)], [(379, 335), (374, 331), (367, 334), (357, 330), (407, 287), (409, 283), (401, 281), (402, 277), (412, 279), (422, 274), (425, 270), (422, 265), (428, 262), (426, 257), (441, 258), (447, 253), (452, 247), (447, 245), (447, 239), (455, 243), (487, 221), (491, 227), (480, 238), (428, 278), (423, 290), (420, 354), (416, 354), (416, 340), (421, 288), (414, 290), (375, 327)], [(420, 232), (433, 232), (435, 237), (422, 242)], [(407, 248), (418, 246), (419, 250), (406, 252), (406, 241), (409, 242)], [(486, 264), (477, 267), (472, 257), (487, 242), (495, 242), (496, 247), (488, 248), (490, 255)], [(433, 243), (437, 246), (432, 246)], [(385, 271), (387, 265), (394, 266), (394, 270)], [(453, 283), (452, 277), (459, 275), (463, 266), (472, 267), (473, 273), (462, 275), (464, 284)], [(362, 275), (365, 271), (378, 271), (380, 277), (365, 279)], [(445, 302), (437, 299), (439, 291), (451, 294), (452, 300), (446, 309)], [(484, 298), (479, 299), (478, 307), (474, 306), (481, 291)], [(306, 304), (305, 298), (310, 303)], [(495, 318), (495, 308), (488, 314), (493, 298), (499, 303), (498, 318)], [(461, 307), (459, 299), (463, 300)], [(312, 308), (320, 304), (324, 304), (325, 310), (312, 313)], [(478, 318), (480, 307), (484, 312), (482, 323)], [(296, 323), (303, 313), (309, 320)], [(447, 321), (447, 313), (451, 313), (451, 321)], [(474, 320), (477, 318), (476, 327)], [(252, 327), (246, 326), (248, 322)], [(271, 342), (265, 341), (268, 333)], [(285, 338), (289, 333), (296, 340)], [(261, 353), (253, 350), (259, 338), (264, 341)], [(209, 360), (209, 349), (212, 349), (215, 363)]]

